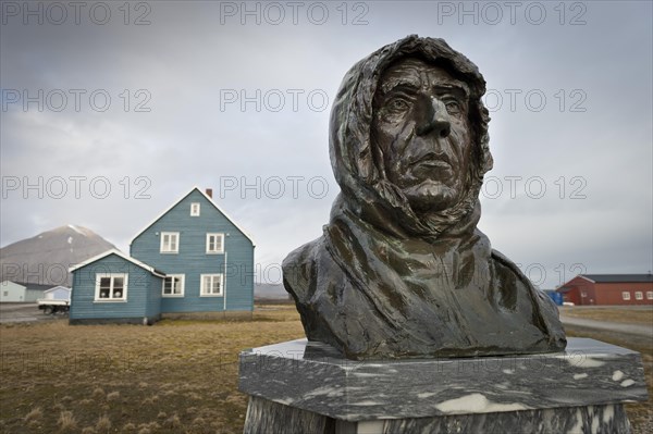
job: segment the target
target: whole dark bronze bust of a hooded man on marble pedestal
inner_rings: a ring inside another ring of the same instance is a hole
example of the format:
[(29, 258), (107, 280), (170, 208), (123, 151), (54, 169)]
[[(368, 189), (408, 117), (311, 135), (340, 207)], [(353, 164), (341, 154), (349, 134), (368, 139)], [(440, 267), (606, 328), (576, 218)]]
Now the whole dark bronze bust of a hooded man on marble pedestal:
[(352, 359), (565, 348), (554, 303), (476, 227), (484, 91), (467, 58), (417, 36), (345, 75), (330, 124), (342, 193), (323, 236), (283, 262), (309, 339)]

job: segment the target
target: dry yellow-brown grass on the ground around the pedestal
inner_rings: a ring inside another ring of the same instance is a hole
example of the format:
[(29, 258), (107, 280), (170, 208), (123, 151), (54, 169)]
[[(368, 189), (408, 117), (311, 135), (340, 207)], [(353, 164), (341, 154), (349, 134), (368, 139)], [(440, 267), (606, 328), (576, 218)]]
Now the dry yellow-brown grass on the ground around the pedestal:
[[(652, 343), (568, 332), (641, 351), (653, 396)], [(0, 433), (239, 433), (238, 352), (303, 336), (294, 306), (241, 322), (0, 325)], [(634, 433), (652, 432), (651, 400), (627, 409)]]

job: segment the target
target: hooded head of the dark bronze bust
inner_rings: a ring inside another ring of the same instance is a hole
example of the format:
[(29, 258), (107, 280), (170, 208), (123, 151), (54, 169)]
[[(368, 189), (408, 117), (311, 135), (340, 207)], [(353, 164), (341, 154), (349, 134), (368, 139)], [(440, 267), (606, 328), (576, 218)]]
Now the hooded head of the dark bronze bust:
[(477, 66), (442, 39), (408, 36), (354, 65), (331, 112), (343, 191), (332, 219), (344, 204), (379, 228), (427, 238), (476, 224), (492, 168), (484, 92)]

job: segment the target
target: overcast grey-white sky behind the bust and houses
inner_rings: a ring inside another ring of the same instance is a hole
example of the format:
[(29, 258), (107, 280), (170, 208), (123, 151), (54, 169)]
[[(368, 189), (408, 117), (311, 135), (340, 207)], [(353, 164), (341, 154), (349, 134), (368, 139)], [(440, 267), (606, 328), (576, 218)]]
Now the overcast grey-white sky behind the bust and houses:
[(409, 34), (488, 82), (479, 227), (543, 288), (653, 265), (652, 3), (2, 2), (1, 246), (65, 224), (128, 252), (193, 186), (257, 280), (321, 234), (345, 72)]

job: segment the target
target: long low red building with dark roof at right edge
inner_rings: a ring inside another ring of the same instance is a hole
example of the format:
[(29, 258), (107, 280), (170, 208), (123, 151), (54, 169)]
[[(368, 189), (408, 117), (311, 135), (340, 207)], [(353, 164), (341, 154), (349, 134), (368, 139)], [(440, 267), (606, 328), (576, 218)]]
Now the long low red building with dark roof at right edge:
[(653, 275), (579, 274), (556, 292), (576, 306), (653, 305)]

